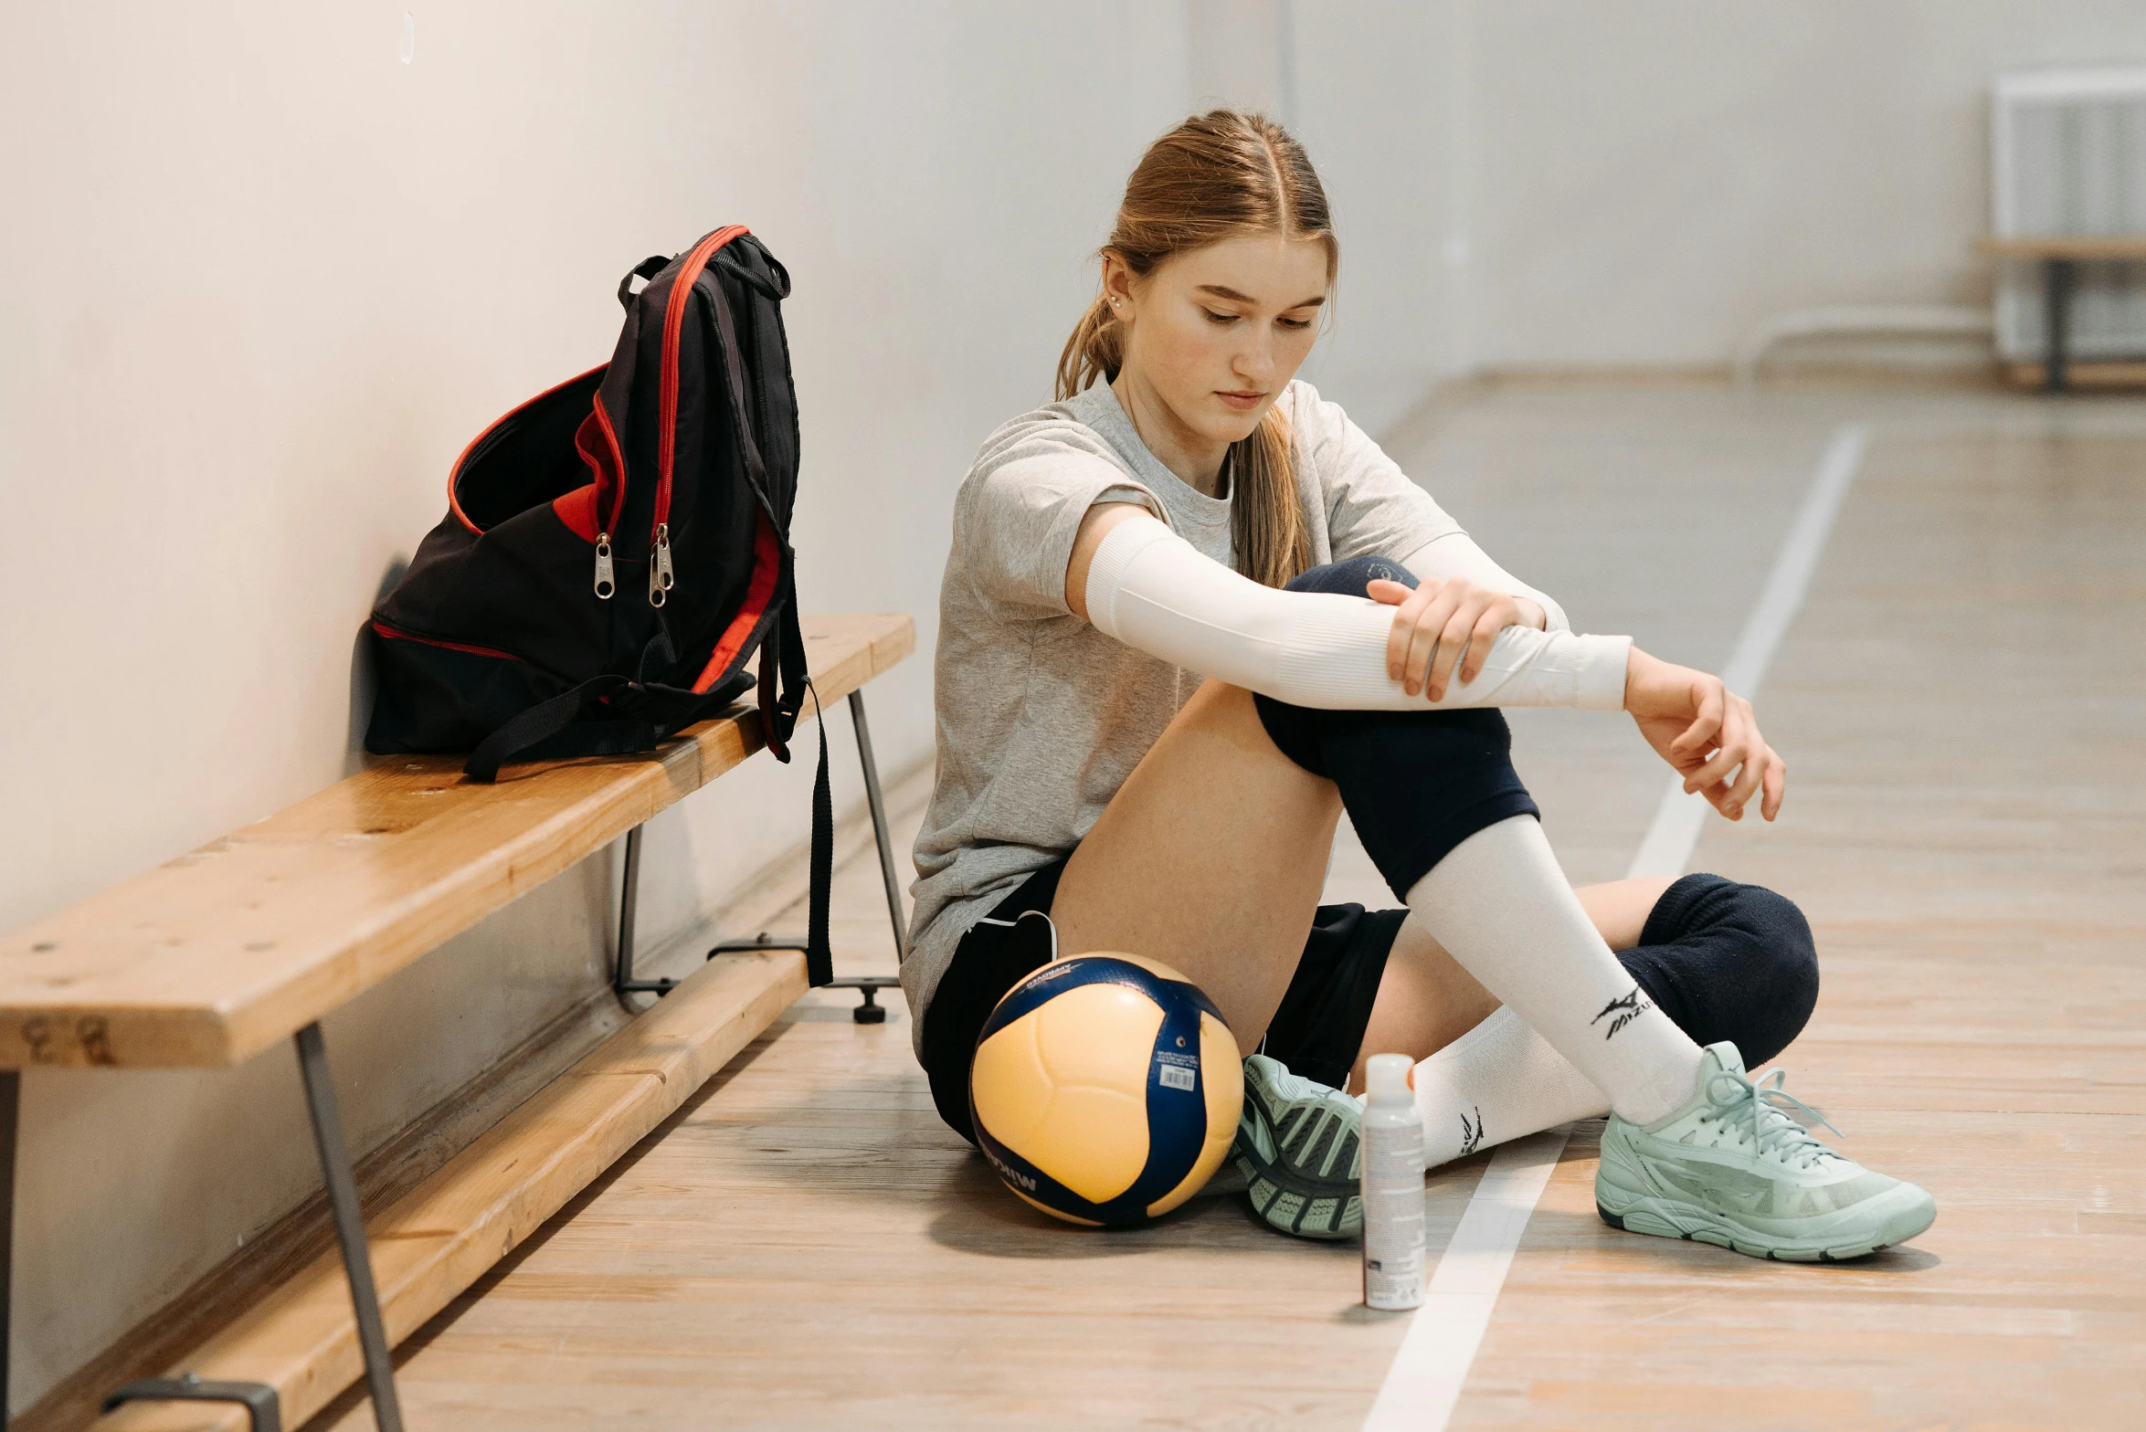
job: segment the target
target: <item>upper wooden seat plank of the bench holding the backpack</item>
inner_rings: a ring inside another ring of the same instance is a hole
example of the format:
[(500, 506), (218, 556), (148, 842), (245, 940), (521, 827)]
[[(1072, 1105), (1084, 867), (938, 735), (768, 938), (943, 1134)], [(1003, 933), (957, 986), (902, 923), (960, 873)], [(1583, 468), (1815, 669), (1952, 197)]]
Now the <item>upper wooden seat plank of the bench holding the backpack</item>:
[[(803, 628), (826, 703), (916, 647), (899, 613)], [(0, 1068), (249, 1059), (762, 744), (740, 707), (652, 757), (524, 765), (498, 785), (464, 780), (459, 757), (382, 757), (0, 939)]]

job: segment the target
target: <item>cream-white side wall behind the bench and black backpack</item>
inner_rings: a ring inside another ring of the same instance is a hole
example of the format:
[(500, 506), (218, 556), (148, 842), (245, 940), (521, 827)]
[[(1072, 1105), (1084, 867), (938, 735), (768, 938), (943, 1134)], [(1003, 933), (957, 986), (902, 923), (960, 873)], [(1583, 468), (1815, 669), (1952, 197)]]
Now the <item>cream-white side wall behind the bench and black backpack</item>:
[[(796, 279), (805, 605), (916, 613), (871, 701), (882, 765), (927, 759), (953, 484), (1047, 397), (1185, 34), (1148, 0), (11, 6), (0, 926), (352, 770), (354, 637), (449, 461), (725, 221)], [(659, 823), (652, 939), (803, 836), (807, 778)], [(590, 862), (328, 1020), (352, 1143), (594, 988), (609, 887)], [(17, 1411), (318, 1181), (283, 1053), (32, 1072), (19, 1166)]]

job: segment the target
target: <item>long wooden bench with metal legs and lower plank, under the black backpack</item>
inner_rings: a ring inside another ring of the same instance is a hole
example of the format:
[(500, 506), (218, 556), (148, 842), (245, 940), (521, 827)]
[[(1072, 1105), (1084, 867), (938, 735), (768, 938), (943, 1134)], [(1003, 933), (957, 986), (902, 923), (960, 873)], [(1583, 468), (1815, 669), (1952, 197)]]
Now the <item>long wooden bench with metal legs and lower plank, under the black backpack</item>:
[[(901, 896), (861, 688), (916, 647), (916, 628), (906, 615), (809, 617), (803, 628), (820, 699), (850, 701), (899, 948)], [(335, 1215), (339, 1261), (322, 1256), (215, 1333), (182, 1363), (200, 1381), (118, 1389), (99, 1428), (236, 1428), (249, 1417), (255, 1428), (294, 1428), (363, 1372), (378, 1426), (399, 1430), (393, 1342), (805, 993), (803, 952), (777, 941), (710, 958), (676, 984), (633, 978), (642, 823), (762, 744), (758, 712), (734, 707), (650, 757), (521, 765), (498, 785), (464, 780), (457, 757), (382, 757), (266, 821), (0, 939), (0, 1293), (13, 1241), (19, 1070), (28, 1065), (217, 1068), (294, 1040)], [(367, 1226), (320, 1018), (618, 836), (627, 836), (627, 883), (614, 984), (667, 999)], [(0, 1408), (4, 1316), (0, 1297)]]

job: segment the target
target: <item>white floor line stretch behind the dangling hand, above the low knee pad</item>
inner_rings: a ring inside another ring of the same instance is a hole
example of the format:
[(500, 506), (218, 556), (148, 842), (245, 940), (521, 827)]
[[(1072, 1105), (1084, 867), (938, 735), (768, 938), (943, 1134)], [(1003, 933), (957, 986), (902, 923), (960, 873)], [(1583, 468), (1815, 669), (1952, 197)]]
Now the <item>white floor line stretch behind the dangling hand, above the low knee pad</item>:
[[(1850, 422), (1833, 435), (1826, 454), (1818, 459), (1811, 491), (1805, 493), (1796, 521), (1781, 538), (1781, 553), (1773, 560), (1766, 587), (1758, 594), (1758, 605), (1751, 607), (1751, 615), (1736, 637), (1730, 665), (1721, 669), (1721, 684), (1738, 697), (1758, 695), (1760, 677), (1766, 675), (1781, 637), (1788, 635), (1788, 624), (1803, 611), (1803, 596), (1811, 590), (1811, 572), (1818, 570), (1818, 557), (1826, 551), (1826, 538), (1833, 534), (1833, 519), (1841, 514), (1848, 484), (1863, 467), (1863, 448), (1869, 444), (1869, 435), (1867, 427)], [(1708, 810), (1713, 806), (1704, 797), (1685, 793), (1682, 776), (1670, 776), (1670, 785), (1661, 791), (1661, 806), (1655, 808), (1655, 823), (1646, 827), (1646, 838), (1640, 840), (1625, 879), (1682, 875), (1685, 866), (1691, 864), (1691, 851), (1700, 842)]]

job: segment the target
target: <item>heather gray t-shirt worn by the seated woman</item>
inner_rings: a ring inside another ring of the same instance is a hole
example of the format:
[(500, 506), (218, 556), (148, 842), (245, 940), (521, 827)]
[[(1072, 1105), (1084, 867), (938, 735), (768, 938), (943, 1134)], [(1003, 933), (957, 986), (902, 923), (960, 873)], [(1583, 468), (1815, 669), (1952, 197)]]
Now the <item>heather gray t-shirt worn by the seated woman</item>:
[[(1459, 525), (1309, 384), (1290, 422), (1313, 562), (1416, 553)], [(1200, 675), (1105, 637), (1067, 607), (1082, 517), (1140, 502), (1234, 566), (1230, 502), (1148, 452), (1103, 384), (1000, 427), (953, 504), (940, 583), (938, 782), (916, 836), (916, 915), (901, 988), (923, 1012), (976, 920), (1079, 845)]]

